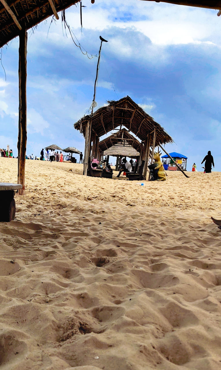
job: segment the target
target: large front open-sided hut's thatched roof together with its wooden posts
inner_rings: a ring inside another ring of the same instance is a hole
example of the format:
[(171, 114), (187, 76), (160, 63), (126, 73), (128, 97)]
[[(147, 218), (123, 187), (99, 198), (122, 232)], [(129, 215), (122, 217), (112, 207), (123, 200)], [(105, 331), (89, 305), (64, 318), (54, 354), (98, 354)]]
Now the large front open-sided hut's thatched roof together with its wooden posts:
[[(173, 139), (129, 96), (118, 101), (108, 101), (108, 103), (106, 107), (94, 112), (93, 117), (84, 116), (74, 124), (74, 128), (81, 131), (85, 137), (84, 175), (87, 175), (88, 157), (90, 155), (98, 159), (102, 157), (99, 138), (112, 129), (120, 127), (121, 130), (124, 126), (141, 140), (140, 150), (138, 150), (140, 152), (139, 163), (145, 160), (144, 177), (146, 179), (149, 155), (153, 154), (155, 146), (172, 143)], [(102, 141), (102, 145), (106, 140)], [(112, 135), (108, 140), (114, 145)]]

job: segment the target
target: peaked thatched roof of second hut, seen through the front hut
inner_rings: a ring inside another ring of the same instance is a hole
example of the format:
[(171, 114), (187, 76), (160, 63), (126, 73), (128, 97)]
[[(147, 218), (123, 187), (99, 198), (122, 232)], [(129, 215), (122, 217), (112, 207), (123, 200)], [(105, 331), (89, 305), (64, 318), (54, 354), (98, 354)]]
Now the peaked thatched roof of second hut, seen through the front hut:
[(122, 129), (100, 141), (99, 149), (103, 152), (104, 150), (111, 148), (113, 145), (120, 145), (123, 147), (132, 146), (139, 151), (138, 149), (140, 148), (141, 142), (131, 135), (126, 129)]

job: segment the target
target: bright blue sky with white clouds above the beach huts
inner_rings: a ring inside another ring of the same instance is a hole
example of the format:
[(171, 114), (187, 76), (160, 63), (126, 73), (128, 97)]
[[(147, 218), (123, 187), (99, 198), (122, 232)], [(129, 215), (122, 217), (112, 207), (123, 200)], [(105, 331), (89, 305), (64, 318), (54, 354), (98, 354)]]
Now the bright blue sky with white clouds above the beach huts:
[[(168, 152), (188, 157), (201, 171), (210, 150), (221, 171), (221, 17), (217, 11), (142, 0), (83, 0), (66, 10), (66, 20), (89, 54), (103, 43), (96, 101), (129, 95), (173, 137)], [(84, 152), (73, 128), (90, 108), (97, 57), (81, 53), (60, 19), (28, 31), (27, 155), (40, 156), (57, 144)], [(73, 36), (74, 38), (74, 36)], [(74, 38), (76, 43), (78, 41)], [(18, 50), (15, 38), (1, 51), (0, 148), (17, 156)], [(5, 72), (4, 72), (5, 70)], [(6, 78), (5, 78), (6, 73)], [(77, 161), (79, 156), (76, 155)], [(110, 158), (114, 163), (115, 159)]]

